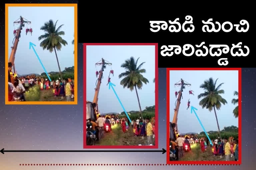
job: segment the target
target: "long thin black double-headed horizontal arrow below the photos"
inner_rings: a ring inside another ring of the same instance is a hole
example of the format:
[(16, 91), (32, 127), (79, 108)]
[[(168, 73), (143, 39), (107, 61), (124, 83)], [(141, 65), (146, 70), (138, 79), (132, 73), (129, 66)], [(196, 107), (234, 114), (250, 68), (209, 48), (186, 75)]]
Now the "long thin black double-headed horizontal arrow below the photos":
[(166, 150), (4, 150), (1, 149), (0, 152), (162, 152), (164, 154)]

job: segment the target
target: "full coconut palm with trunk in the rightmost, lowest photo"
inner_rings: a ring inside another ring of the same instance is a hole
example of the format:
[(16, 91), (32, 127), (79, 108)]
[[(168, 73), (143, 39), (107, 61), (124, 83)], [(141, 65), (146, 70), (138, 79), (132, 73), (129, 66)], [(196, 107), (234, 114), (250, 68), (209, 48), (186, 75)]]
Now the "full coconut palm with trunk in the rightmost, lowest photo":
[[(220, 110), (221, 104), (225, 105), (227, 101), (224, 98), (222, 98), (222, 96), (220, 95), (220, 94), (224, 94), (224, 90), (220, 90), (220, 87), (223, 83), (217, 86), (216, 85), (217, 80), (218, 79), (216, 79), (215, 83), (212, 78), (209, 78), (209, 80), (205, 80), (204, 83), (200, 85), (200, 88), (204, 89), (204, 93), (199, 94), (198, 99), (203, 98), (199, 102), (199, 105), (202, 106), (202, 108), (206, 108), (210, 112), (212, 111), (212, 109), (214, 109), (217, 126), (218, 126), (218, 133), (220, 135), (220, 127), (219, 127), (219, 122), (216, 114), (216, 109)], [(220, 138), (221, 138), (221, 135), (220, 135)]]

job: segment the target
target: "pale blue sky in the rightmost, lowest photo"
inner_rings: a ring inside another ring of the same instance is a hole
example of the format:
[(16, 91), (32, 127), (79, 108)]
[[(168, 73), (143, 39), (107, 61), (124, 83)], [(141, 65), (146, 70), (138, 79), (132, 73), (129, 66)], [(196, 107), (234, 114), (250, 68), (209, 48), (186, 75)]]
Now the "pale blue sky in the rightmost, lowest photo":
[[(220, 110), (216, 110), (219, 126), (222, 130), (224, 127), (228, 126), (237, 126), (238, 127), (238, 118), (234, 118), (233, 110), (237, 105), (233, 105), (231, 100), (237, 98), (233, 95), (234, 91), (238, 91), (238, 71), (170, 71), (170, 121), (173, 119), (174, 108), (175, 108), (175, 91), (179, 91), (180, 87), (174, 87), (174, 84), (177, 83), (181, 78), (186, 82), (190, 83), (190, 87), (186, 87), (183, 90), (180, 109), (178, 113), (178, 129), (180, 133), (187, 132), (201, 132), (201, 128), (197, 118), (194, 114), (190, 114), (190, 108), (187, 110), (187, 102), (190, 99), (190, 107), (194, 106), (198, 110), (196, 111), (199, 119), (201, 120), (206, 131), (217, 130), (217, 123), (214, 111), (209, 112), (208, 109), (202, 109), (199, 106), (199, 101), (197, 96), (200, 93), (203, 93), (203, 89), (199, 86), (204, 82), (204, 80), (213, 78), (215, 81), (217, 78), (217, 85), (224, 83), (220, 89), (225, 91), (222, 94), (222, 97), (227, 100), (226, 105), (222, 105)], [(194, 91), (194, 96), (189, 95), (189, 90)]]

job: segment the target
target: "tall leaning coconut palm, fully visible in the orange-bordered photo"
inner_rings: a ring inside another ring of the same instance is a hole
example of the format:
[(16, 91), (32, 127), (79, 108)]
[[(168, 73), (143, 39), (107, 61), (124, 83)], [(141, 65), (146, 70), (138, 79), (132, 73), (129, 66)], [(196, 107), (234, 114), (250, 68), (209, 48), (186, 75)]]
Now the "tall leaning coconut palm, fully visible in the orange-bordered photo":
[(58, 28), (56, 28), (57, 22), (58, 22), (58, 20), (54, 24), (52, 20), (49, 20), (48, 22), (44, 23), (44, 25), (40, 28), (40, 30), (43, 30), (45, 32), (45, 34), (38, 37), (38, 40), (39, 41), (43, 40), (40, 43), (40, 46), (43, 49), (47, 49), (50, 52), (52, 52), (54, 50), (56, 59), (57, 59), (57, 63), (58, 63), (58, 67), (59, 67), (60, 77), (61, 77), (61, 80), (63, 81), (56, 49), (57, 49), (57, 51), (60, 51), (62, 45), (65, 46), (68, 43), (65, 40), (63, 40), (61, 37), (62, 35), (65, 35), (64, 31), (60, 31), (63, 24), (60, 25)]

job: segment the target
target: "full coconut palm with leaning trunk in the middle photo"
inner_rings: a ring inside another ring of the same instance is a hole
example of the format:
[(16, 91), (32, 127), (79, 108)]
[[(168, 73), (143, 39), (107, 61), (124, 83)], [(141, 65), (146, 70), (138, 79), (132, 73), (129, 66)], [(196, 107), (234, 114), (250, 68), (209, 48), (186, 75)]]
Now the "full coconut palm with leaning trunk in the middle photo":
[(123, 67), (126, 70), (126, 72), (119, 74), (118, 77), (119, 78), (124, 77), (120, 81), (120, 84), (124, 88), (127, 87), (131, 91), (133, 91), (135, 89), (138, 103), (139, 103), (139, 108), (140, 108), (140, 115), (141, 115), (141, 118), (143, 119), (137, 88), (141, 89), (143, 86), (143, 83), (147, 84), (149, 81), (148, 81), (148, 79), (143, 77), (143, 75), (141, 74), (141, 73), (146, 72), (145, 69), (141, 69), (142, 65), (145, 62), (138, 64), (138, 60), (139, 60), (139, 58), (135, 62), (134, 57), (130, 57), (129, 59), (125, 60), (125, 62), (123, 64), (121, 64), (121, 67)]

